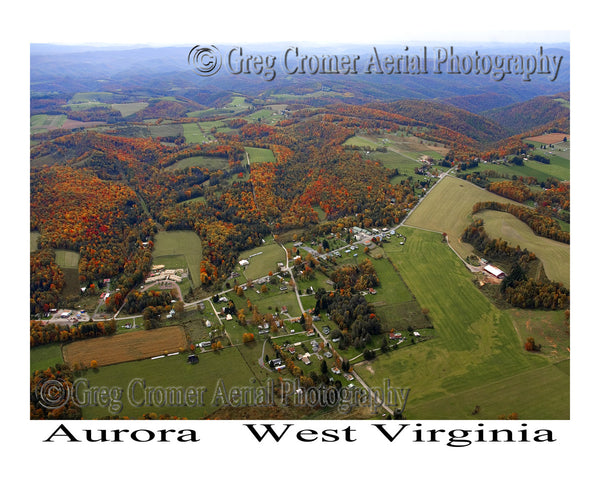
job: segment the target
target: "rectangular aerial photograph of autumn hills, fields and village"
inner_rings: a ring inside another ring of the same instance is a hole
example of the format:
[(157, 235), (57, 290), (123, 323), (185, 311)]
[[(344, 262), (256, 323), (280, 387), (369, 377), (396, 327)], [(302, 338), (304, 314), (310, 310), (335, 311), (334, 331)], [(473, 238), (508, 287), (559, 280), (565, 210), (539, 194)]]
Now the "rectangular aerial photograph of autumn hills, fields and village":
[(30, 418), (568, 420), (570, 44), (30, 45)]

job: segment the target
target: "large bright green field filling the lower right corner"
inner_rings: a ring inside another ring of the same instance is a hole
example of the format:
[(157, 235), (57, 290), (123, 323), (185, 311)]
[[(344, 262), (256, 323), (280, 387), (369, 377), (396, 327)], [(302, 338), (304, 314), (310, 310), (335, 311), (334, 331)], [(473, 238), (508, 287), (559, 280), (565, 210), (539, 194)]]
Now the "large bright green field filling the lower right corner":
[[(361, 377), (371, 386), (389, 378), (396, 387), (410, 388), (408, 418), (472, 418), (476, 405), (478, 418), (513, 411), (521, 417), (568, 418), (566, 373), (525, 352), (509, 313), (478, 291), (438, 234), (406, 228), (402, 233), (406, 244), (385, 250), (419, 304), (429, 309), (435, 337), (355, 367)], [(545, 368), (554, 375), (540, 381), (544, 388), (530, 387), (534, 372)], [(515, 398), (521, 390), (525, 398)]]

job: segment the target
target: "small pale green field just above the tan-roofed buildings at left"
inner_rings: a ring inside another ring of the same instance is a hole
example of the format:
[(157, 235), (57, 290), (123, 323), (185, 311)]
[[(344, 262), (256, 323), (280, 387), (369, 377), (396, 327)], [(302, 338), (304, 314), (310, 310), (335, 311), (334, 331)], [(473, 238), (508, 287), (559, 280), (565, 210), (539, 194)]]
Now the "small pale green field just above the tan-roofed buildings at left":
[(152, 261), (156, 265), (175, 267), (174, 262), (181, 262), (183, 257), (194, 286), (200, 285), (200, 261), (202, 260), (202, 242), (191, 230), (173, 230), (158, 232), (154, 237)]

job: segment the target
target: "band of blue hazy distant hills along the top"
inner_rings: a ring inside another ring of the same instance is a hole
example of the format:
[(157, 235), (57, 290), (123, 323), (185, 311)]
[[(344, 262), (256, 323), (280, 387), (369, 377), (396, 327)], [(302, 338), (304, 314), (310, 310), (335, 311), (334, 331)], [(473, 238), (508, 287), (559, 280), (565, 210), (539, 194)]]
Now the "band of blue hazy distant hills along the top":
[[(191, 46), (190, 46), (191, 47)], [(235, 91), (257, 95), (285, 94), (307, 91), (330, 90), (344, 95), (345, 103), (365, 103), (372, 101), (394, 101), (412, 99), (446, 99), (460, 108), (474, 113), (502, 107), (511, 103), (529, 100), (540, 95), (552, 95), (569, 90), (570, 55), (568, 46), (560, 48), (547, 46), (544, 54), (560, 55), (563, 60), (560, 74), (555, 81), (548, 78), (532, 78), (523, 81), (518, 75), (506, 76), (494, 81), (489, 75), (461, 74), (434, 75), (431, 73), (432, 48), (428, 50), (428, 74), (295, 74), (286, 75), (281, 69), (274, 79), (268, 81), (256, 74), (231, 74), (227, 69), (213, 77), (200, 78), (194, 74), (187, 62), (190, 47), (174, 46), (150, 48), (133, 46), (120, 47), (75, 47), (75, 46), (31, 46), (31, 93), (32, 96), (48, 94), (68, 94), (75, 91), (116, 91), (143, 94), (144, 91), (164, 92), (171, 89), (174, 94), (185, 96), (199, 103), (206, 103), (206, 93), (214, 97), (218, 92)], [(244, 46), (246, 54), (255, 56), (273, 55), (281, 61), (282, 54), (289, 45)], [(227, 47), (219, 46), (222, 52)], [(408, 48), (408, 47), (406, 47)], [(500, 55), (535, 55), (539, 45), (463, 46), (464, 55), (499, 52)], [(369, 58), (377, 49), (381, 56), (404, 54), (403, 48), (365, 45), (323, 47), (299, 47), (302, 54), (359, 55)], [(418, 56), (422, 47), (411, 47), (409, 54)], [(457, 47), (458, 51), (458, 47)], [(465, 98), (465, 96), (468, 96)], [(457, 100), (461, 97), (462, 100)], [(334, 99), (340, 101), (339, 98)], [(331, 98), (313, 99), (314, 104), (331, 103)], [(211, 106), (210, 103), (207, 105)]]

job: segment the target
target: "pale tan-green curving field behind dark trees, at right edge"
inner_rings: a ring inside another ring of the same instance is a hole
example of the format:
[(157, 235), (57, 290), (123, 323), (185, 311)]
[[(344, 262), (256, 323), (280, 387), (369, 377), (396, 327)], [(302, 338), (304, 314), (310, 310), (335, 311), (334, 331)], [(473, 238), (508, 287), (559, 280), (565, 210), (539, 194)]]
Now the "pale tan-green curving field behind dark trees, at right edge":
[(510, 245), (527, 248), (544, 264), (550, 280), (570, 284), (571, 250), (569, 245), (536, 235), (531, 228), (505, 212), (484, 210), (474, 215), (484, 221), (485, 231), (492, 238), (502, 238)]

